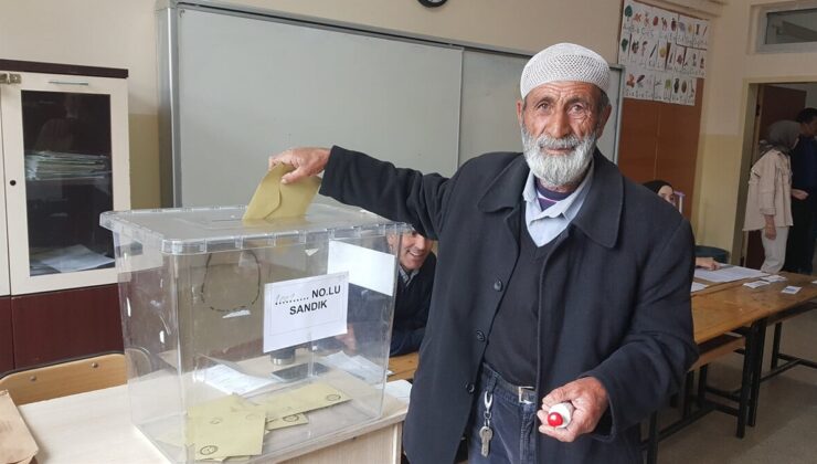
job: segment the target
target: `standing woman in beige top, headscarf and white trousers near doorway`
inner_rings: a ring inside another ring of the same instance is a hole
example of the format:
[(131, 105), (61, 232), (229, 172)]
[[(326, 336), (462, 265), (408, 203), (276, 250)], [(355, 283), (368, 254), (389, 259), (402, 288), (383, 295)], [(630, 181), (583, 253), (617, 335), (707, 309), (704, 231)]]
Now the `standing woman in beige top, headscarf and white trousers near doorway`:
[(761, 140), (760, 159), (749, 176), (744, 231), (762, 230), (765, 260), (761, 271), (776, 274), (786, 259), (786, 239), (792, 226), (792, 196), (805, 199), (802, 190), (792, 190), (792, 162), (788, 158), (800, 135), (799, 124), (778, 120)]

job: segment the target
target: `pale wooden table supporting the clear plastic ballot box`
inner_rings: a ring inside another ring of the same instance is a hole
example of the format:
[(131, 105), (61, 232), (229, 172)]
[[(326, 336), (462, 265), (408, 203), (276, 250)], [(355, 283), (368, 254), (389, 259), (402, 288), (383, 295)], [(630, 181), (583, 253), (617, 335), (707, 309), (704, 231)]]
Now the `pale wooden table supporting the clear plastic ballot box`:
[[(385, 397), (383, 415), (280, 456), (289, 464), (400, 463), (406, 404)], [(127, 387), (19, 407), (40, 446), (40, 464), (168, 463), (130, 422)]]

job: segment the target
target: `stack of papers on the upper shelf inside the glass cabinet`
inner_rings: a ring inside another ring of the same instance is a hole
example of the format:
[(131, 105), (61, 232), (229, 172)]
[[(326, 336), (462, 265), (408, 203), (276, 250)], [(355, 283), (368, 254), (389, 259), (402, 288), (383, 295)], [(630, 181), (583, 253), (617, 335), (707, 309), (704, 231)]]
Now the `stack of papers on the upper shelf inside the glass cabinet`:
[(60, 151), (26, 151), (25, 179), (104, 179), (110, 176), (110, 157)]

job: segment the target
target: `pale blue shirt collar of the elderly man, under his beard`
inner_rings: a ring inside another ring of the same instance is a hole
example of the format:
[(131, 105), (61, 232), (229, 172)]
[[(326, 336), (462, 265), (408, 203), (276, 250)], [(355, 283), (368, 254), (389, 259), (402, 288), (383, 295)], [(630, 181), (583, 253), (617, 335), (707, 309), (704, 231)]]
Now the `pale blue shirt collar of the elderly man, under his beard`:
[(535, 176), (530, 172), (522, 190), (522, 199), (526, 203), (524, 223), (528, 225), (528, 233), (533, 239), (533, 243), (537, 246), (542, 246), (567, 229), (567, 224), (579, 214), (579, 210), (582, 209), (584, 199), (590, 191), (590, 186), (593, 183), (593, 164), (587, 168), (587, 175), (584, 176), (582, 183), (570, 197), (544, 211), (539, 205), (535, 181)]

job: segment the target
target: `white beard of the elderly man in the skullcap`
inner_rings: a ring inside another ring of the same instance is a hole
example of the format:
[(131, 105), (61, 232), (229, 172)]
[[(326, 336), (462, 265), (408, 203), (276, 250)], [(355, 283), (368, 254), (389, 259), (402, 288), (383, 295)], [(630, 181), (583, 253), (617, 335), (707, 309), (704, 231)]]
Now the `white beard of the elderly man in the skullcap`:
[[(563, 187), (577, 182), (586, 171), (596, 149), (596, 134), (591, 133), (583, 139), (574, 135), (552, 138), (543, 134), (534, 139), (522, 126), (522, 146), (524, 160), (533, 176), (545, 187)], [(549, 155), (545, 151), (559, 148), (571, 148), (572, 151), (565, 155)]]

